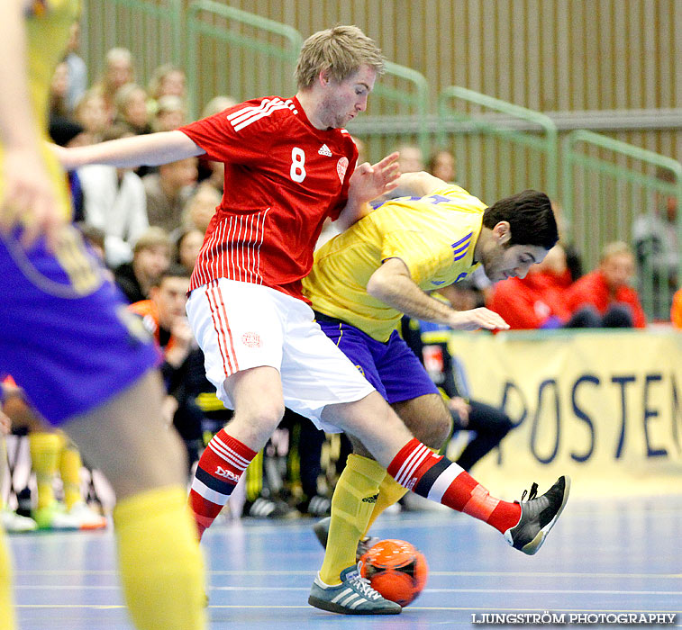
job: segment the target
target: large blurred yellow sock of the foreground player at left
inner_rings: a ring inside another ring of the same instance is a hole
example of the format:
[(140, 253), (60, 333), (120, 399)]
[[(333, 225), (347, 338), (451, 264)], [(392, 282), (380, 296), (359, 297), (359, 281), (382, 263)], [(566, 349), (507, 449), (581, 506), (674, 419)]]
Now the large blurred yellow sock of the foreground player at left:
[(143, 492), (114, 509), (123, 592), (140, 630), (205, 628), (204, 561), (180, 486)]

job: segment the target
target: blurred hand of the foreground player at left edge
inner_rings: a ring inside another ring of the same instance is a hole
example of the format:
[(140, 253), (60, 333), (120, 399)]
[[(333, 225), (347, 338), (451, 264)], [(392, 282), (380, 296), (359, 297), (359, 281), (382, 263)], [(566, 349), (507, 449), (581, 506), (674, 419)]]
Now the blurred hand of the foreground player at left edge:
[(23, 226), (23, 247), (44, 236), (54, 250), (59, 232), (68, 218), (63, 216), (40, 152), (31, 148), (5, 148), (3, 164), (5, 195), (0, 200), (0, 230), (8, 234)]

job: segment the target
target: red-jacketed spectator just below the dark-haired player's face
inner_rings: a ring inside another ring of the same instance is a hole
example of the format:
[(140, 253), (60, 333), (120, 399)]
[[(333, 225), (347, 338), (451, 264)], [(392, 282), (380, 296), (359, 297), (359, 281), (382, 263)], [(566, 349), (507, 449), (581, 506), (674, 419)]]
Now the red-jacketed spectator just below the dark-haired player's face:
[(499, 313), (511, 329), (557, 329), (570, 319), (565, 301), (568, 284), (566, 254), (556, 245), (524, 278), (496, 284), (487, 307)]

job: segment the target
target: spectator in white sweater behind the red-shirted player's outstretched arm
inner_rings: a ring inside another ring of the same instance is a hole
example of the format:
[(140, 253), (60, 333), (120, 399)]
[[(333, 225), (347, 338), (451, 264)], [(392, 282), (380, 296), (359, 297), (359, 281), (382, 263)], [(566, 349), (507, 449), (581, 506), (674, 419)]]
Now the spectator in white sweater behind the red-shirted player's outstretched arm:
[[(115, 126), (105, 139), (132, 135)], [(108, 266), (115, 268), (132, 260), (132, 245), (149, 228), (147, 199), (141, 178), (129, 168), (99, 164), (77, 169), (83, 187), (86, 223), (106, 234), (105, 255)]]

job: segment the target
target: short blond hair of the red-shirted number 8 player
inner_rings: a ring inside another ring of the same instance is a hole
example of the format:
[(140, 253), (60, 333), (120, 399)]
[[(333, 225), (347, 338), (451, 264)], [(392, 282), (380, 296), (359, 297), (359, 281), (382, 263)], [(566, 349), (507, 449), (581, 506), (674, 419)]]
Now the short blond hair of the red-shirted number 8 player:
[(373, 67), (380, 75), (384, 62), (381, 49), (357, 26), (334, 26), (304, 41), (296, 64), (296, 84), (299, 89), (306, 89), (323, 71), (340, 83), (363, 65)]

